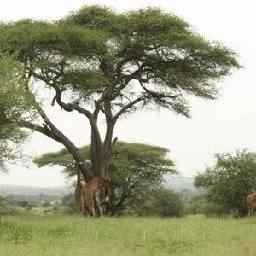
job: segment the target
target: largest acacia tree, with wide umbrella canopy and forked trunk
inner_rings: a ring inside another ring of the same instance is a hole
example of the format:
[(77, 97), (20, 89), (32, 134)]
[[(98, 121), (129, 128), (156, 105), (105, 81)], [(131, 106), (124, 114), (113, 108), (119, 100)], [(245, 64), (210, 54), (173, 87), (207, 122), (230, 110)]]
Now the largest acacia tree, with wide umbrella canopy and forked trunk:
[[(234, 51), (207, 41), (177, 15), (155, 8), (119, 14), (88, 6), (55, 22), (1, 24), (0, 49), (18, 52), (16, 60), (23, 63), (26, 77), (41, 82), (38, 89), (55, 92), (52, 104), (89, 120), (92, 172), (42, 104), (38, 102), (40, 122), (18, 122), (62, 143), (74, 160), (83, 161), (86, 181), (108, 176), (114, 126), (125, 113), (168, 108), (189, 117), (187, 96), (217, 98), (217, 82), (240, 68)], [(98, 128), (100, 118), (106, 122), (104, 134)]]

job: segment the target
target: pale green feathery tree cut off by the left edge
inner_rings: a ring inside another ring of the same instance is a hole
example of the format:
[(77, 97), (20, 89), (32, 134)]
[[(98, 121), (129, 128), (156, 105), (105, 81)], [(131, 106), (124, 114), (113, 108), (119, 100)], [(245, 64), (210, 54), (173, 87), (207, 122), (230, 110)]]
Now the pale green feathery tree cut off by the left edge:
[[(0, 53), (0, 171), (5, 172), (6, 163), (26, 159), (19, 145), (29, 133), (20, 129), (16, 122), (22, 118), (35, 119), (33, 100), (26, 93), (26, 79), (18, 73), (23, 70), (12, 57)], [(30, 113), (27, 115), (27, 113)]]

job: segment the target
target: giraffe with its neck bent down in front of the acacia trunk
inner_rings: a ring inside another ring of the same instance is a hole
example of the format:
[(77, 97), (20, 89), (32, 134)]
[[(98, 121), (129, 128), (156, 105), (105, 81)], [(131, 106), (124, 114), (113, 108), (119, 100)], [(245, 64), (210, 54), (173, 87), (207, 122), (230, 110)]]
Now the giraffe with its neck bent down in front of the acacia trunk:
[[(108, 190), (108, 195), (100, 201), (101, 189), (105, 188)], [(113, 195), (113, 186), (107, 180), (102, 177), (94, 177), (90, 182), (85, 183), (83, 188), (81, 189), (81, 203), (82, 209), (81, 214), (84, 215), (84, 211), (87, 213), (87, 217), (90, 217), (90, 207), (92, 216), (95, 218), (95, 207), (94, 201), (96, 200), (96, 204), (99, 208), (101, 216), (103, 216), (102, 204), (109, 203), (111, 201)]]

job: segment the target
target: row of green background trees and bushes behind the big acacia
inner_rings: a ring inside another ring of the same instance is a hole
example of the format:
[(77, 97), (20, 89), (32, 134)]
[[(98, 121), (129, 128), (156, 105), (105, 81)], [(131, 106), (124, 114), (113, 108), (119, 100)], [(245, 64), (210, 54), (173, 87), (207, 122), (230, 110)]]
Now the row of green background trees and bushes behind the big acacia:
[[(84, 155), (90, 154), (89, 146), (80, 150)], [(106, 209), (108, 215), (182, 217), (204, 214), (229, 218), (247, 215), (245, 200), (256, 190), (254, 152), (243, 149), (216, 154), (213, 166), (207, 166), (195, 178), (183, 179), (173, 161), (166, 157), (167, 152), (165, 148), (145, 144), (117, 143), (108, 178), (114, 187), (113, 199)], [(44, 154), (35, 161), (38, 166), (64, 166), (63, 173), (68, 180), (73, 180), (70, 189), (66, 192), (51, 189), (37, 194), (31, 191), (19, 195), (2, 193), (0, 213), (14, 213), (9, 209), (11, 206), (36, 213), (75, 214), (76, 167), (68, 151)]]

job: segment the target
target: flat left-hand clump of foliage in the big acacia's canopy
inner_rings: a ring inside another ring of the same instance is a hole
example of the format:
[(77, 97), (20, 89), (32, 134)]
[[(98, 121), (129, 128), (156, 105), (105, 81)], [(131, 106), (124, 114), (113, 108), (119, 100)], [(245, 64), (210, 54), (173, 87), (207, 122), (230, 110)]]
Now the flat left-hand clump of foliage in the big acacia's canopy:
[[(57, 64), (57, 60), (52, 58), (53, 55), (86, 58), (104, 53), (101, 49), (104, 49), (100, 40), (102, 36), (89, 30), (82, 32), (78, 26), (20, 20), (2, 23), (0, 32), (3, 37), (0, 41), (3, 51), (18, 52), (17, 60), (20, 62), (26, 62), (29, 56), (31, 63), (41, 63), (42, 67)], [(48, 58), (44, 55), (46, 52), (52, 55)]]

